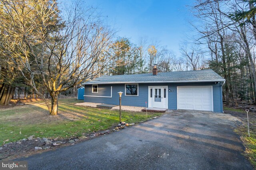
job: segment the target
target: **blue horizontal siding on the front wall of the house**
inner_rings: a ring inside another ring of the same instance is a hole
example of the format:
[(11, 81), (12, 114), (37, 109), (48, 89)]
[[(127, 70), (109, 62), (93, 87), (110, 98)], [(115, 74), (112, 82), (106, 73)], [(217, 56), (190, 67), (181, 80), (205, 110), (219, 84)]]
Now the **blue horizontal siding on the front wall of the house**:
[[(118, 92), (124, 92), (124, 84), (99, 84), (98, 93), (92, 93), (92, 85), (85, 85), (85, 95), (88, 96), (110, 96), (112, 86), (112, 98), (101, 97), (84, 97), (84, 102), (104, 103), (119, 105)], [(168, 86), (168, 109), (177, 109), (177, 86), (212, 86), (213, 91), (213, 108), (214, 112), (222, 112), (222, 86), (214, 84), (214, 82), (198, 82), (198, 83), (143, 83), (139, 84), (139, 96), (122, 95), (122, 105), (145, 107), (148, 102), (148, 86)]]

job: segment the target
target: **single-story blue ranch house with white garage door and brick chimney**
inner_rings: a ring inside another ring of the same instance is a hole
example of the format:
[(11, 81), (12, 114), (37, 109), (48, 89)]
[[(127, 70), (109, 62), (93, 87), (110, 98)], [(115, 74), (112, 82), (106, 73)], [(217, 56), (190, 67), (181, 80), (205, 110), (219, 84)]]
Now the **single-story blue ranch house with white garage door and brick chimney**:
[(213, 70), (102, 76), (84, 85), (84, 102), (222, 112), (225, 79)]

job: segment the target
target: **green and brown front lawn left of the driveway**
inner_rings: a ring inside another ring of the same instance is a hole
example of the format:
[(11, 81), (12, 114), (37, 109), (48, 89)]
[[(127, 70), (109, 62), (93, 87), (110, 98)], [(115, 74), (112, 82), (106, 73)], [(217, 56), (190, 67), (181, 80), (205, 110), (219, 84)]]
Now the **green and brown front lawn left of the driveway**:
[[(42, 102), (0, 110), (0, 146), (30, 135), (35, 137), (71, 138), (95, 131), (103, 131), (117, 125), (119, 111), (93, 107), (75, 106), (81, 102), (74, 98), (59, 100), (59, 115), (48, 115)], [(148, 118), (162, 113), (148, 113)], [(146, 120), (146, 113), (122, 111), (122, 121), (138, 123)], [(20, 134), (21, 133), (21, 134)], [(8, 140), (8, 141), (6, 141)], [(4, 142), (6, 141), (6, 142)]]

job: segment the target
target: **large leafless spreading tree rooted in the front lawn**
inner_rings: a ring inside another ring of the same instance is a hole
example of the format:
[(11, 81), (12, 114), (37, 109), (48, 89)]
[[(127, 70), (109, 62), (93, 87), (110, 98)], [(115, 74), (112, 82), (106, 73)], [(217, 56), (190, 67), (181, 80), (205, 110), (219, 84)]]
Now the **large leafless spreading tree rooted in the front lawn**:
[[(104, 53), (113, 32), (94, 11), (76, 3), (66, 13), (55, 0), (1, 0), (1, 53), (9, 55), (27, 83), (58, 113), (58, 95), (97, 76), (106, 63)], [(50, 94), (51, 104), (36, 80)]]

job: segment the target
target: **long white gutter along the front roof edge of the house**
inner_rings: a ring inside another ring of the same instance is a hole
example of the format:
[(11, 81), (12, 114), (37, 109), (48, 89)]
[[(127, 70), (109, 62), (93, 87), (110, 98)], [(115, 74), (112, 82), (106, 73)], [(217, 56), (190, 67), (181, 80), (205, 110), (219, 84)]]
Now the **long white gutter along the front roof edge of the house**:
[(220, 79), (220, 80), (181, 80), (181, 81), (148, 81), (148, 82), (85, 82), (82, 83), (82, 85), (85, 84), (125, 84), (125, 83), (185, 83), (185, 82), (224, 82), (225, 79)]

